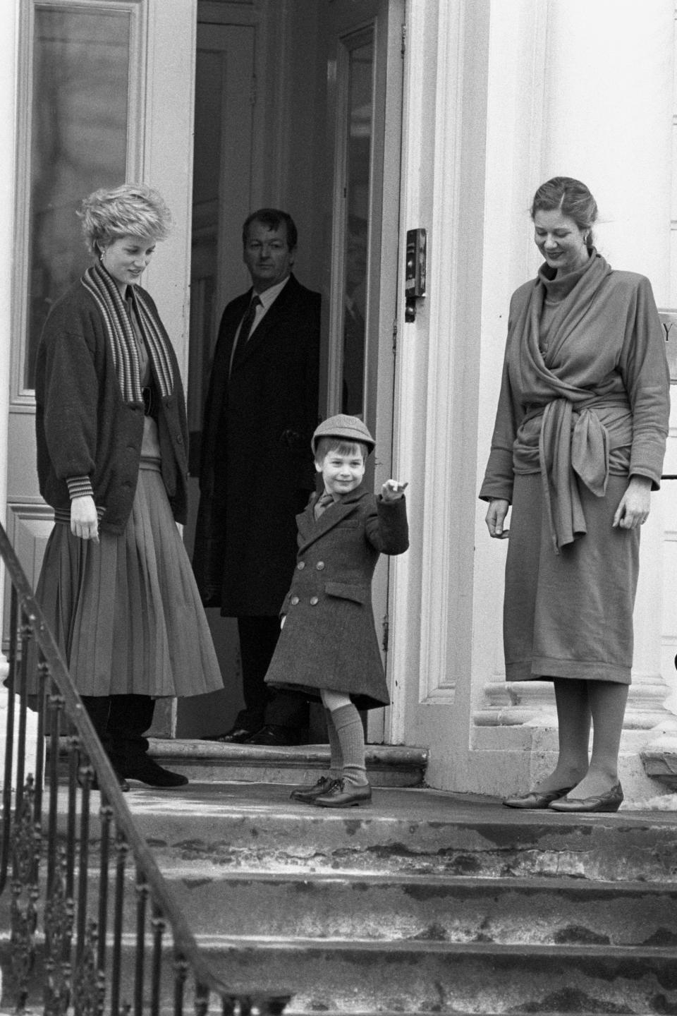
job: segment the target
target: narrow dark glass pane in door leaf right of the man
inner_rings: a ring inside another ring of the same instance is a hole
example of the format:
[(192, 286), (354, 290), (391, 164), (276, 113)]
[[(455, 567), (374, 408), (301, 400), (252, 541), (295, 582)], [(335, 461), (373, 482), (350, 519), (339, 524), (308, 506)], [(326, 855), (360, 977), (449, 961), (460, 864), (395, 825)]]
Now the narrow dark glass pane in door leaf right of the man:
[(364, 411), (367, 223), (374, 106), (374, 46), (350, 51), (348, 86), (347, 188), (345, 247), (342, 408)]

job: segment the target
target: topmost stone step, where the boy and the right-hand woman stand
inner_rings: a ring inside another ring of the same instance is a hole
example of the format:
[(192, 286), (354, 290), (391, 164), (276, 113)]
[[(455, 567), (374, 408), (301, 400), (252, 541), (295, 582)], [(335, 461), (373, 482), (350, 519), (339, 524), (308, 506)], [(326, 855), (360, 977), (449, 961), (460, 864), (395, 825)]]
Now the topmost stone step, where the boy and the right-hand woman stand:
[(677, 814), (524, 812), (495, 801), (380, 788), (368, 807), (319, 809), (262, 783), (127, 796), (160, 864), (269, 874), (570, 878), (677, 883)]

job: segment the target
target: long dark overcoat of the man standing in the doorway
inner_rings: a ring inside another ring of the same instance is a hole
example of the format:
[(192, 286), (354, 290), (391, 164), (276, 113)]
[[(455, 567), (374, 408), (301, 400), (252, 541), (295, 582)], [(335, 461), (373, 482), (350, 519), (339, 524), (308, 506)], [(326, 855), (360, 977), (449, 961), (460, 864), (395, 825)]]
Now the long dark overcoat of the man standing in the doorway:
[(228, 367), (252, 291), (223, 311), (202, 434), (193, 567), (226, 617), (274, 616), (289, 586), (295, 515), (315, 489), (320, 294), (292, 275)]

